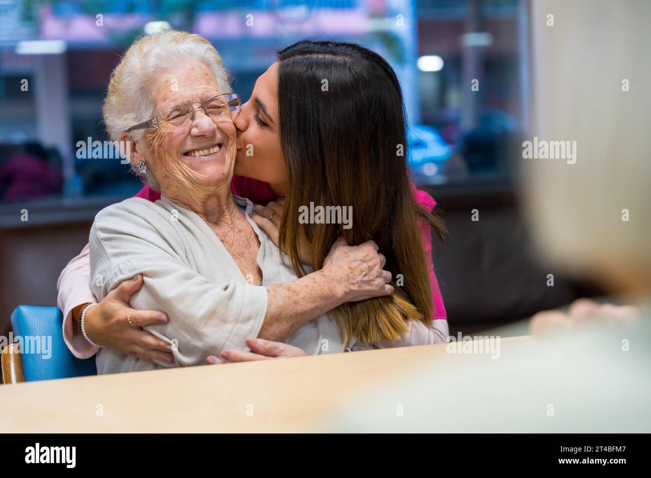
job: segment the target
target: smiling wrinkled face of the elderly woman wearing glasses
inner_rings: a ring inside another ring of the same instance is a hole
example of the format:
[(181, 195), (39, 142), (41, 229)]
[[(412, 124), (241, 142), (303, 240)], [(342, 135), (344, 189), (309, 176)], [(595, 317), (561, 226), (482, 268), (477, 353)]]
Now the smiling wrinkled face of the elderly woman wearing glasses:
[(152, 93), (154, 113), (176, 105), (197, 107), (194, 121), (186, 126), (179, 127), (170, 121), (161, 124), (160, 130), (147, 130), (148, 151), (143, 154), (147, 167), (152, 168), (160, 183), (161, 193), (172, 196), (197, 186), (228, 190), (236, 148), (230, 111), (206, 115), (198, 107), (202, 101), (223, 93), (210, 68), (199, 62), (169, 68), (156, 78)]

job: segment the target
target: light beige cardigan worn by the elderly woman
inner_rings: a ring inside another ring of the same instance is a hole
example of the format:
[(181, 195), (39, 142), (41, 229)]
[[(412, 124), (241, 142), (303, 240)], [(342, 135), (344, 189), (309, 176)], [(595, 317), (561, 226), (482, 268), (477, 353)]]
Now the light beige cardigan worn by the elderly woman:
[[(251, 219), (253, 203), (234, 196), (246, 206), (249, 224), (260, 239), (258, 265), (263, 286), (249, 285), (238, 265), (208, 225), (192, 211), (162, 198), (149, 202), (130, 198), (106, 207), (90, 230), (91, 289), (98, 300), (125, 279), (143, 274), (143, 287), (133, 295), (136, 309), (162, 310), (165, 325), (145, 330), (173, 345), (176, 364), (202, 365), (221, 349), (245, 349), (245, 339), (256, 337), (267, 309), (264, 285), (296, 279), (286, 256)], [(354, 340), (341, 343), (333, 321), (324, 315), (303, 326), (286, 340), (307, 354), (365, 349)], [(103, 347), (97, 355), (98, 373), (158, 368)]]

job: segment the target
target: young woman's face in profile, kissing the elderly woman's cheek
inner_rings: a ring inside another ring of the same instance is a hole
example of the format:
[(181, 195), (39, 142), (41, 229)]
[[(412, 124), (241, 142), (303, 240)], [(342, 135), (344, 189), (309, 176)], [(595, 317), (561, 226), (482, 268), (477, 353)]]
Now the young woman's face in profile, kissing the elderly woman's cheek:
[(238, 152), (235, 174), (270, 183), (277, 193), (288, 177), (278, 129), (278, 63), (256, 81), (249, 101), (233, 115)]

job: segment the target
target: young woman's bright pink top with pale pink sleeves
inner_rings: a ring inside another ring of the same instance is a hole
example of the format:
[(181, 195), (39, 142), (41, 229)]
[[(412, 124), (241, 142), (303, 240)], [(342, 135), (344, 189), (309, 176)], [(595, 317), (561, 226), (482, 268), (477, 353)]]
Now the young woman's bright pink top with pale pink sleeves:
[[(416, 201), (419, 206), (432, 211), (436, 202), (432, 196), (419, 191), (414, 185)], [(249, 198), (255, 204), (267, 204), (275, 200), (276, 196), (271, 191), (269, 185), (256, 179), (242, 178), (241, 176), (233, 176), (230, 189), (233, 194)], [(143, 198), (149, 201), (157, 201), (160, 199), (161, 194), (154, 191), (148, 186), (143, 187), (139, 193), (135, 195), (137, 198)], [(424, 221), (419, 221), (421, 228), (422, 242), (424, 245), (425, 256), (427, 258), (428, 268), (430, 271), (430, 287), (432, 288), (432, 300), (434, 301), (434, 315), (430, 326), (425, 326), (421, 322), (409, 321), (408, 332), (396, 342), (383, 341), (376, 344), (376, 347), (381, 349), (389, 347), (404, 347), (408, 345), (427, 345), (431, 343), (443, 343), (449, 336), (447, 325), (447, 314), (445, 313), (445, 306), (443, 306), (443, 297), (439, 291), (439, 285), (434, 274), (434, 266), (432, 265), (432, 236), (428, 224)], [(68, 349), (77, 358), (89, 358), (98, 351), (97, 347), (93, 347), (90, 343), (79, 333), (77, 329), (72, 326), (72, 310), (80, 304), (87, 302), (95, 302), (96, 299), (90, 291), (90, 256), (88, 245), (83, 248), (79, 256), (72, 259), (66, 268), (61, 272), (59, 281), (57, 282), (57, 289), (59, 295), (57, 297), (57, 304), (63, 313), (63, 339), (68, 345)]]

